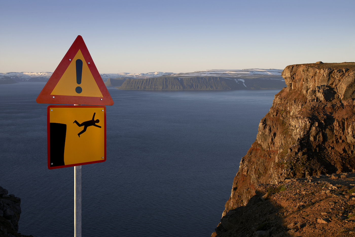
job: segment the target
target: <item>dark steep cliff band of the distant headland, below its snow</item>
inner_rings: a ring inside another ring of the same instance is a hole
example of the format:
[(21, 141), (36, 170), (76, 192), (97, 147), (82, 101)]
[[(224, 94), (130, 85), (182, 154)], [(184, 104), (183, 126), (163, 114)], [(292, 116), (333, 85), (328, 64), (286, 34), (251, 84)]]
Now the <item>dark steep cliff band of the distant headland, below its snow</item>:
[[(284, 81), (278, 76), (256, 75), (255, 78), (240, 77), (153, 77), (147, 79), (127, 79), (121, 90), (149, 91), (209, 91), (238, 89), (282, 89)], [(269, 78), (270, 77), (270, 78)], [(112, 83), (112, 82), (111, 82)]]

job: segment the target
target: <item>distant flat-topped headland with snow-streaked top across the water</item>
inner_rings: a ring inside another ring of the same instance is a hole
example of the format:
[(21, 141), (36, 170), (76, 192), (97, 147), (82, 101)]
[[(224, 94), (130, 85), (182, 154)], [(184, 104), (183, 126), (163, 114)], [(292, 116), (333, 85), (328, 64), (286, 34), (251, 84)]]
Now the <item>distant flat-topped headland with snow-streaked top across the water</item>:
[(209, 91), (238, 89), (282, 89), (285, 80), (279, 69), (205, 70), (148, 78), (110, 78), (106, 86), (121, 90)]

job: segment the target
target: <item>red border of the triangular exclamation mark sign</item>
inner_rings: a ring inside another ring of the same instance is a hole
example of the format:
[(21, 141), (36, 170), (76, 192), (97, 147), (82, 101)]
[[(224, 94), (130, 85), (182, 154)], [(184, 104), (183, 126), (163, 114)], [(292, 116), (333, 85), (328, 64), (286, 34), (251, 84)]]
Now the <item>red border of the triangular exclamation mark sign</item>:
[[(86, 64), (88, 65), (92, 76), (95, 79), (97, 86), (99, 87), (103, 97), (88, 97), (88, 96), (63, 96), (63, 95), (51, 95), (54, 87), (59, 82), (62, 75), (72, 61), (78, 51), (84, 56)], [(88, 64), (90, 63), (90, 64)], [(54, 97), (54, 98), (53, 98)], [(101, 100), (102, 99), (102, 100)], [(55, 69), (54, 73), (39, 93), (36, 102), (39, 104), (86, 104), (86, 105), (113, 105), (113, 100), (108, 92), (105, 83), (103, 82), (99, 71), (97, 70), (94, 61), (85, 45), (83, 38), (78, 35), (70, 46), (68, 52)]]

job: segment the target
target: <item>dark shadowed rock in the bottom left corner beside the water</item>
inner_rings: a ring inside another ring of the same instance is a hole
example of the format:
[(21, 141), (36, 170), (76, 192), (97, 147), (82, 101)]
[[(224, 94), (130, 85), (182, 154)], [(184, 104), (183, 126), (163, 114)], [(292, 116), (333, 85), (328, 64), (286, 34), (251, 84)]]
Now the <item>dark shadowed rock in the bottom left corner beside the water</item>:
[(21, 198), (8, 193), (0, 186), (0, 237), (33, 237), (17, 233), (21, 215)]

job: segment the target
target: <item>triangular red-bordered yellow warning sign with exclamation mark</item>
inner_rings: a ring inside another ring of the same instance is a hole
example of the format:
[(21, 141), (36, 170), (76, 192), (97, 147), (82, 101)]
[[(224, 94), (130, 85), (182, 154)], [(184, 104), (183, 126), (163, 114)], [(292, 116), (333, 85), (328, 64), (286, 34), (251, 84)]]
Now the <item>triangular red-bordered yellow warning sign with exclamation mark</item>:
[(78, 35), (39, 93), (37, 103), (113, 105), (113, 100)]

